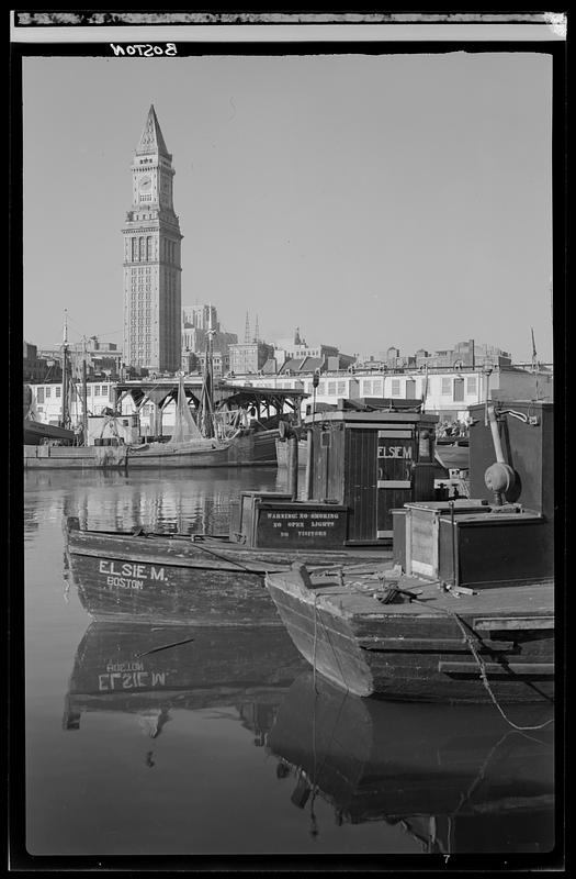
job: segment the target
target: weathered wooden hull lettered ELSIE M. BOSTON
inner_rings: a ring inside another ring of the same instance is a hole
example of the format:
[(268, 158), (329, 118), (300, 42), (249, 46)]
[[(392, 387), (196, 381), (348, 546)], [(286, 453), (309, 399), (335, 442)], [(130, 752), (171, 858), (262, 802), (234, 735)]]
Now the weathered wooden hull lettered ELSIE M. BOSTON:
[(327, 566), (381, 564), (389, 553), (247, 549), (226, 539), (82, 531), (66, 521), (69, 576), (95, 620), (193, 625), (282, 625), (264, 589), (267, 570), (294, 558)]

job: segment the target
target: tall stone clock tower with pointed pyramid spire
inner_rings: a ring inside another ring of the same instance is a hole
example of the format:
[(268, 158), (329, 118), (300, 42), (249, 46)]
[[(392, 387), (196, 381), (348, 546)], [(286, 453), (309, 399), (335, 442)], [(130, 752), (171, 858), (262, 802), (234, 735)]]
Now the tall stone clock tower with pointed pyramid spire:
[(124, 363), (180, 369), (182, 235), (172, 202), (172, 156), (150, 105), (134, 153), (124, 236)]

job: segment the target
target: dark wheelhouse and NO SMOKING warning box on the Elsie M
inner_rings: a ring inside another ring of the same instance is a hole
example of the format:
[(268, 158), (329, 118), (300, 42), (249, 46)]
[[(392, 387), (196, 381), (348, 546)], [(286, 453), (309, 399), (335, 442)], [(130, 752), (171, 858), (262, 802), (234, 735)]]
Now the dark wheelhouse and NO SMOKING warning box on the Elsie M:
[(434, 497), (438, 416), (399, 402), (376, 410), (341, 401), (307, 416), (306, 500), (242, 492), (230, 538), (270, 548), (389, 545), (392, 511)]

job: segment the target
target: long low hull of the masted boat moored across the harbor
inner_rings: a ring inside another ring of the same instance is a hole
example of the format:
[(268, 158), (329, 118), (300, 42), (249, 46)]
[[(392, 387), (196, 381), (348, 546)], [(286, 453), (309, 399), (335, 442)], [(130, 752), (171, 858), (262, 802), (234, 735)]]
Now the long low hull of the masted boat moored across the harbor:
[(185, 448), (169, 443), (132, 446), (24, 446), (24, 467), (42, 469), (172, 469), (275, 467), (278, 430), (237, 436), (226, 443), (202, 441)]

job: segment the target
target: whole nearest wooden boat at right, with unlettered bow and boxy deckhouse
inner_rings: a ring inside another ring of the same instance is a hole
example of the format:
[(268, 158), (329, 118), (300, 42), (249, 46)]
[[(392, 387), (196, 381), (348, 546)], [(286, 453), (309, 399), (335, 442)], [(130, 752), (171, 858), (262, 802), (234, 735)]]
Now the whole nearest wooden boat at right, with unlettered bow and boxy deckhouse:
[(266, 578), (303, 656), (352, 693), (553, 700), (553, 405), (471, 412), (475, 500), (394, 511), (394, 557), (373, 574)]

